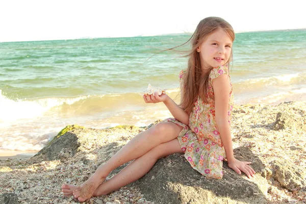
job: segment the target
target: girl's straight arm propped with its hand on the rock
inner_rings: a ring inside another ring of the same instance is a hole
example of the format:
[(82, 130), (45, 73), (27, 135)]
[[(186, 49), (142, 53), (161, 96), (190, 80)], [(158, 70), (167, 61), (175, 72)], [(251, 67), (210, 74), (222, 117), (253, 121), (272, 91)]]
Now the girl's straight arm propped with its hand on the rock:
[(227, 74), (222, 74), (213, 80), (215, 95), (215, 114), (218, 130), (224, 146), (228, 166), (238, 174), (243, 171), (249, 178), (254, 176), (255, 171), (248, 164), (234, 158), (230, 124), (227, 120), (228, 101), (230, 101), (231, 83)]

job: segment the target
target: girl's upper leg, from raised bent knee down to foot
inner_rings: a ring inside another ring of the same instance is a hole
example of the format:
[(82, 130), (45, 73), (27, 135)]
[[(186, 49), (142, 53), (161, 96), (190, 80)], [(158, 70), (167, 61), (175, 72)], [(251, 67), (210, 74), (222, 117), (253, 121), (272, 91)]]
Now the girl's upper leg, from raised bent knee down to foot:
[[(123, 146), (109, 161), (97, 168), (94, 174), (74, 190), (74, 196), (84, 201), (90, 198), (96, 188), (105, 181), (107, 175), (115, 168), (131, 160), (137, 159), (150, 149), (161, 143), (168, 142), (179, 136), (183, 127), (172, 122), (164, 122), (152, 126), (145, 132), (135, 136), (130, 142)], [(62, 191), (67, 185), (62, 186)]]

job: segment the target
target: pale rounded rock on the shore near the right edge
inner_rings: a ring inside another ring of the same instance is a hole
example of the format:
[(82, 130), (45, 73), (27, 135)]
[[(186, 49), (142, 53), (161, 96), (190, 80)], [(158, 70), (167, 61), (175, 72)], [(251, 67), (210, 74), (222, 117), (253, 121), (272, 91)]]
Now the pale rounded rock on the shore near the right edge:
[(273, 125), (273, 130), (278, 131), (287, 128), (292, 130), (306, 131), (306, 125), (303, 124), (303, 121), (295, 119), (294, 116), (287, 112), (278, 112)]

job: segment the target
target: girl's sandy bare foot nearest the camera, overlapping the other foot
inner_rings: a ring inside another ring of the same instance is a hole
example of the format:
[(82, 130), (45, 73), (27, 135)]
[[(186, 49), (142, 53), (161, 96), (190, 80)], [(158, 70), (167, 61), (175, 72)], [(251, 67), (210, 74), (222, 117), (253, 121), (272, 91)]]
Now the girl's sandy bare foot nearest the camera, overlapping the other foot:
[(105, 177), (102, 180), (90, 177), (84, 184), (73, 190), (74, 198), (77, 198), (80, 202), (84, 202), (91, 198), (97, 187), (105, 181)]

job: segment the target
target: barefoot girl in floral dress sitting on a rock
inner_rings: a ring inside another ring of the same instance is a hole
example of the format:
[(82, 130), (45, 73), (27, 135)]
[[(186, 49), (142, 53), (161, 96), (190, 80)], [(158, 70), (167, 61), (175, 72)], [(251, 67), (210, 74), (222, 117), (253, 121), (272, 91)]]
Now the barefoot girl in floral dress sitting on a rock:
[[(145, 103), (163, 102), (174, 118), (169, 118), (135, 136), (108, 162), (99, 166), (80, 187), (64, 184), (64, 195), (85, 201), (108, 194), (146, 174), (156, 161), (174, 153), (184, 153), (192, 168), (202, 175), (222, 178), (222, 161), (249, 178), (255, 171), (251, 162), (236, 160), (231, 139), (233, 93), (228, 65), (232, 61), (235, 34), (219, 17), (199, 22), (191, 37), (188, 68), (180, 73), (181, 105), (167, 95), (144, 95)], [(108, 174), (134, 160), (109, 181)]]

